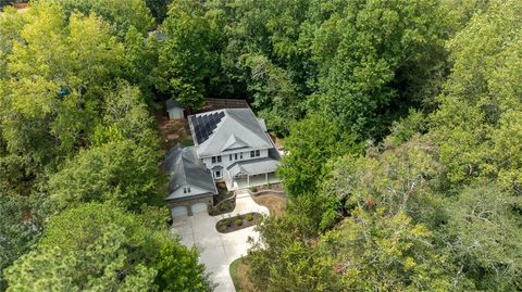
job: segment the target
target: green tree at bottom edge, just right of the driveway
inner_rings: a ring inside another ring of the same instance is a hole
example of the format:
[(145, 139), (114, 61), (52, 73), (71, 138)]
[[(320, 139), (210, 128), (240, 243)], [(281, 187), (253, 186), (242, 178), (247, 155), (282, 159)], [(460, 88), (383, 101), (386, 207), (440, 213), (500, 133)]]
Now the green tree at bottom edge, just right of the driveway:
[(333, 258), (299, 236), (295, 220), (269, 217), (246, 257), (249, 280), (260, 291), (343, 291)]

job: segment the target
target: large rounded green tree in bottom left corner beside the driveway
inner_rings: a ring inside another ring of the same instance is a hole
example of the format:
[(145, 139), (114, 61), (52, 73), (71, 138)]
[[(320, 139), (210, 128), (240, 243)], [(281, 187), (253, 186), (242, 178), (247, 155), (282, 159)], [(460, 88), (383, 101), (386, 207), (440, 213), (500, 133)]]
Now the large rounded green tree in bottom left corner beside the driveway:
[(8, 291), (210, 291), (197, 252), (139, 216), (83, 204), (51, 217), (36, 250), (5, 271)]

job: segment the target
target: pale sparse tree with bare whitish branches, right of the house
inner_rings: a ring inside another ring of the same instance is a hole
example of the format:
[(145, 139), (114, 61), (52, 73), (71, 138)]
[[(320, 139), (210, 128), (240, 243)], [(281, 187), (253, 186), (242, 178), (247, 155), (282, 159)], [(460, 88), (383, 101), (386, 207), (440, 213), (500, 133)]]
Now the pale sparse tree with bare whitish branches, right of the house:
[(321, 193), (337, 198), (350, 214), (355, 208), (383, 208), (390, 216), (405, 213), (430, 227), (439, 224), (436, 148), (414, 136), (396, 149), (366, 156), (344, 156), (332, 161)]

